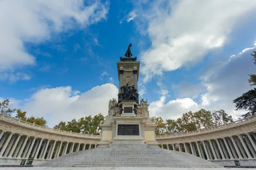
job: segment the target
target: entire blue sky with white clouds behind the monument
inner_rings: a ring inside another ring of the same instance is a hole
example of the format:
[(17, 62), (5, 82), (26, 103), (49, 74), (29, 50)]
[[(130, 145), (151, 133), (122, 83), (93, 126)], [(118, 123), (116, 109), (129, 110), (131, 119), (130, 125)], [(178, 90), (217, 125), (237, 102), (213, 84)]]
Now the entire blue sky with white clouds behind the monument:
[(244, 113), (232, 100), (252, 88), (256, 2), (86, 2), (0, 2), (1, 100), (44, 116), (49, 127), (107, 115), (118, 93), (116, 61), (132, 43), (150, 116), (177, 119), (201, 108), (224, 109), (234, 119)]

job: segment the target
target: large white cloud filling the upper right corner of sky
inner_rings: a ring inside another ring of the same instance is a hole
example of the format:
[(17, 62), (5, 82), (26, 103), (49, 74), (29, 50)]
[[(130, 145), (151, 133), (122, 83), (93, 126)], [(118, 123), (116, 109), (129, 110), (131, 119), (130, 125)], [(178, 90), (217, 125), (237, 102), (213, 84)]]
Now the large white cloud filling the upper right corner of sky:
[(144, 82), (163, 71), (198, 62), (222, 47), (234, 26), (255, 14), (256, 1), (156, 1), (149, 6), (135, 18), (137, 28), (146, 27), (151, 40), (151, 48), (141, 54)]

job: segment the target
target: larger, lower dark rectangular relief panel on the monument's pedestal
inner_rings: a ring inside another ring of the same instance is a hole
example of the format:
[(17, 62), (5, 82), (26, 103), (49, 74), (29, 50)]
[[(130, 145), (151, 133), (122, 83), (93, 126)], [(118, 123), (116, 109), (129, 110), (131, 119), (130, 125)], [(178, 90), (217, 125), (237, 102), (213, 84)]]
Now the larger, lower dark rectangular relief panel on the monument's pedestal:
[(139, 125), (118, 125), (117, 135), (139, 136)]

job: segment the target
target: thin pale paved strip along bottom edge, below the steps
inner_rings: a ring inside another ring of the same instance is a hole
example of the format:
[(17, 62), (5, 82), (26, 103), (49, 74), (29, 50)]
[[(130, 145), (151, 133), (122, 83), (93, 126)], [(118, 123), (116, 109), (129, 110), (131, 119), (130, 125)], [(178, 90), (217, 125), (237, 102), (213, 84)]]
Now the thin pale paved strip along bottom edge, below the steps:
[[(0, 168), (1, 169), (1, 168)], [(193, 167), (5, 167), (5, 170), (248, 170), (248, 168), (193, 168)]]

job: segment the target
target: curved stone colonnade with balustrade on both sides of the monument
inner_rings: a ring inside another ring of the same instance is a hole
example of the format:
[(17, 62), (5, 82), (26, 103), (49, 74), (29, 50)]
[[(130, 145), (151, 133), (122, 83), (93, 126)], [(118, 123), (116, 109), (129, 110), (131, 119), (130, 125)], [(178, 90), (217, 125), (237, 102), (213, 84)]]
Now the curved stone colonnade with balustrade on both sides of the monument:
[[(34, 157), (47, 161), (72, 152), (94, 148), (101, 136), (43, 127), (0, 114), (0, 165), (20, 164)], [(231, 166), (232, 160), (256, 165), (256, 116), (207, 129), (156, 136), (163, 149), (199, 156)], [(36, 164), (34, 163), (33, 164)]]

